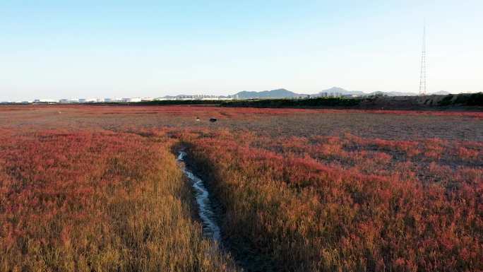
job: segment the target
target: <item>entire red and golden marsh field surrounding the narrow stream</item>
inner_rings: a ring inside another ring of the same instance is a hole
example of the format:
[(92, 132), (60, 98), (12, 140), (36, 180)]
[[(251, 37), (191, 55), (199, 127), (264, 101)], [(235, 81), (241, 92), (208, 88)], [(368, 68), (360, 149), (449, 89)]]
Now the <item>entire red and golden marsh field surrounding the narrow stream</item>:
[(482, 177), (482, 112), (0, 107), (0, 271), (482, 271)]

